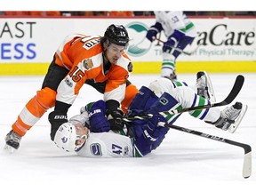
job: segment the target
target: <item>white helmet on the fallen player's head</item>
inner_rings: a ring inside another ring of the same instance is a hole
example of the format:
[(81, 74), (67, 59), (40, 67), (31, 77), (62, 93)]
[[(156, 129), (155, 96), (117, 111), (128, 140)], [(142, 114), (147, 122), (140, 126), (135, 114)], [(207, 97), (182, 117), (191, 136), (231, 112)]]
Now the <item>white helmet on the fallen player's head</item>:
[(76, 134), (76, 126), (70, 122), (61, 124), (58, 131), (54, 137), (54, 143), (58, 148), (61, 148), (65, 151), (78, 151), (83, 147), (84, 142), (82, 144), (77, 145), (76, 140), (80, 140), (85, 135), (77, 135)]

